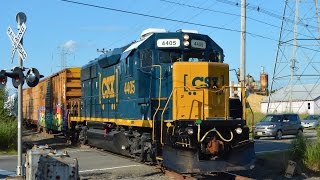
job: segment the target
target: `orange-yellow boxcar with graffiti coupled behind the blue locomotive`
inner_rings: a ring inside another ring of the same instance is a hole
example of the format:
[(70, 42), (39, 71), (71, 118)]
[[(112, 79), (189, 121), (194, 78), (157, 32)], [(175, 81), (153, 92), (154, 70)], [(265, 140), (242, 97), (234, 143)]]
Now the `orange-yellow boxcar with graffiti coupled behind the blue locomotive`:
[(67, 131), (67, 102), (80, 98), (80, 68), (67, 68), (23, 89), (23, 119), (39, 131)]

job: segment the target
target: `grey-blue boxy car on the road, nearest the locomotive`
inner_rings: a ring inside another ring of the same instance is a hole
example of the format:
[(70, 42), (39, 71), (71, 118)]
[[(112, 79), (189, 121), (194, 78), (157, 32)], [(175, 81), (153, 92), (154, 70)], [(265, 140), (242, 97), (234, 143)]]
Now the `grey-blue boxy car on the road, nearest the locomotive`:
[(303, 126), (298, 114), (268, 114), (254, 126), (253, 138), (275, 137), (281, 139), (283, 135), (302, 134)]

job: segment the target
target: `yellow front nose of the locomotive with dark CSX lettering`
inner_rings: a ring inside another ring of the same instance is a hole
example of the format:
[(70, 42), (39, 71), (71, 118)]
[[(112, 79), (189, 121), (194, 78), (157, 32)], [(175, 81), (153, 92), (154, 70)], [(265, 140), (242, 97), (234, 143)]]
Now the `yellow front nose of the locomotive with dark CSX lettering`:
[(229, 66), (215, 62), (176, 62), (173, 65), (175, 120), (225, 118)]

